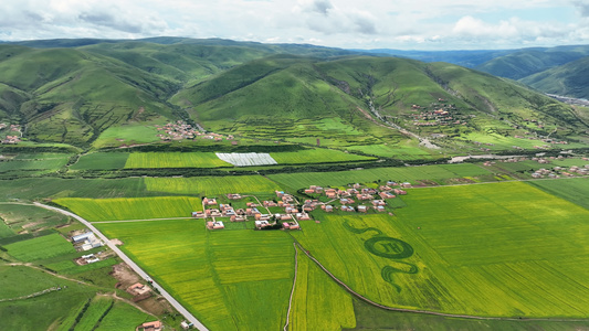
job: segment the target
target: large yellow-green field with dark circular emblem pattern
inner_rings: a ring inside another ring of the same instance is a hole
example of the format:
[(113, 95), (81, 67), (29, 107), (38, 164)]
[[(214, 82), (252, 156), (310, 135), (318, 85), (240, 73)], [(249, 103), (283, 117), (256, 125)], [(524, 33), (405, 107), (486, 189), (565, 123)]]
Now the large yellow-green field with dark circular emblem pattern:
[[(588, 239), (582, 220), (589, 211), (517, 182), (410, 190), (403, 200), (408, 206), (396, 211), (398, 217), (326, 216), (294, 235), (353, 289), (383, 305), (473, 316), (587, 316), (588, 254), (579, 247)], [(376, 229), (355, 233), (344, 224)], [(371, 239), (382, 236), (395, 241)], [(390, 253), (409, 252), (397, 239), (413, 255)], [(348, 268), (351, 260), (360, 267)]]

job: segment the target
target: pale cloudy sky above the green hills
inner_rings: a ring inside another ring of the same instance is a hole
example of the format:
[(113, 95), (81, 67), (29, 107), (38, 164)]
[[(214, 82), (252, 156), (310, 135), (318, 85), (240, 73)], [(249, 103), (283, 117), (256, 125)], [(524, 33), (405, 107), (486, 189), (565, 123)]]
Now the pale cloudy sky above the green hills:
[(1, 0), (0, 40), (221, 38), (343, 49), (589, 44), (589, 0)]

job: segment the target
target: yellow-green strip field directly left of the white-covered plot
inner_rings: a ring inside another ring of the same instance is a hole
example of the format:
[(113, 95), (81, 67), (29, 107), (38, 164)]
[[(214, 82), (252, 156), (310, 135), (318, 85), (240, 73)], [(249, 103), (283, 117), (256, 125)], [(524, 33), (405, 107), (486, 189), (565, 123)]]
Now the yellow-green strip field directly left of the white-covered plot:
[(219, 168), (232, 167), (213, 152), (130, 153), (125, 168)]

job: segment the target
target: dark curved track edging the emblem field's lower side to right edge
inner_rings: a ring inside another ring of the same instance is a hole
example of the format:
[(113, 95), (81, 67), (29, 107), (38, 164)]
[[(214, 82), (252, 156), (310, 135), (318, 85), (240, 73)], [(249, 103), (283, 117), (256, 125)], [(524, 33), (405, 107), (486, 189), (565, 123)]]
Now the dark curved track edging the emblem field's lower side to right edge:
[[(294, 237), (293, 237), (294, 238)], [(390, 310), (390, 311), (399, 311), (399, 312), (411, 312), (411, 313), (420, 313), (420, 314), (432, 314), (432, 316), (440, 316), (440, 317), (448, 317), (448, 318), (462, 318), (462, 319), (471, 319), (471, 320), (495, 320), (495, 321), (553, 321), (553, 322), (587, 322), (589, 321), (589, 318), (582, 319), (582, 318), (571, 318), (571, 319), (562, 319), (562, 318), (509, 318), (509, 317), (484, 317), (484, 316), (472, 316), (472, 314), (456, 314), (456, 313), (446, 313), (446, 312), (438, 312), (438, 311), (430, 311), (430, 310), (420, 310), (420, 309), (408, 309), (408, 308), (397, 308), (397, 307), (390, 307), (380, 305), (378, 302), (375, 302), (362, 295), (356, 292), (353, 290), (349, 286), (347, 286), (344, 281), (339, 280), (334, 274), (332, 274), (326, 267), (324, 267), (315, 257), (311, 256), (308, 250), (306, 250), (296, 238), (294, 238), (295, 244), (303, 249), (305, 255), (313, 260), (322, 270), (327, 274), (327, 276), (332, 277), (337, 284), (339, 284), (341, 287), (344, 287), (349, 293), (355, 296), (356, 298), (381, 309)]]

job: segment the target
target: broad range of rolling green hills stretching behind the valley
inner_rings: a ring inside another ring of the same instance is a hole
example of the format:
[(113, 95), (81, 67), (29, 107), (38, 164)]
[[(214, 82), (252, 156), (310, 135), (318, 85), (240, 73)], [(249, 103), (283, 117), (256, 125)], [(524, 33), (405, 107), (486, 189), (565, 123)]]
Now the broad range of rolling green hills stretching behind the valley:
[[(39, 47), (0, 44), (0, 121), (20, 122), (35, 141), (88, 146), (112, 127), (181, 118), (214, 131), (334, 146), (408, 139), (398, 129), (451, 137), (587, 129), (564, 104), (448, 63), (181, 38), (25, 43)], [(416, 126), (420, 111), (439, 109), (454, 117)]]

